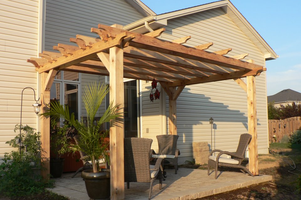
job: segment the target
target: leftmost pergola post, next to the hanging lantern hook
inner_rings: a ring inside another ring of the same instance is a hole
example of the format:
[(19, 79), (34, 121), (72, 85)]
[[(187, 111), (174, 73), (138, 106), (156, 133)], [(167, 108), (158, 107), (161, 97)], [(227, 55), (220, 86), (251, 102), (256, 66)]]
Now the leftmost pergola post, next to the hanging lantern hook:
[[(41, 73), (40, 76), (40, 88), (41, 88), (41, 113), (45, 113), (49, 110), (50, 103), (50, 90), (45, 91), (44, 85), (46, 84), (48, 73)], [(50, 117), (40, 117), (40, 133), (41, 133), (41, 142), (42, 142), (42, 167), (41, 175), (44, 179), (49, 178), (48, 175), (50, 174)]]

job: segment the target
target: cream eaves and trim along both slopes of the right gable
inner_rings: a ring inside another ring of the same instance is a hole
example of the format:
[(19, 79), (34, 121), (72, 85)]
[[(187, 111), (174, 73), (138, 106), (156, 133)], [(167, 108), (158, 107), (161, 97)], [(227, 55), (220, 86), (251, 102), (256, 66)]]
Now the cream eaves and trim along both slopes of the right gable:
[[(260, 34), (245, 19), (245, 17), (228, 0), (207, 3), (200, 6), (185, 8), (155, 16), (148, 16), (134, 23), (128, 24), (123, 28), (125, 30), (135, 31), (137, 33), (146, 33), (149, 30), (148, 27), (155, 30), (167, 25), (167, 20), (191, 15), (194, 13), (200, 13), (215, 8), (221, 8), (226, 14), (228, 14), (228, 16), (234, 21), (234, 23), (250, 38), (250, 40), (258, 47), (258, 49), (261, 50), (266, 60), (276, 59), (279, 57), (260, 36)], [(147, 23), (146, 25), (145, 22)]]

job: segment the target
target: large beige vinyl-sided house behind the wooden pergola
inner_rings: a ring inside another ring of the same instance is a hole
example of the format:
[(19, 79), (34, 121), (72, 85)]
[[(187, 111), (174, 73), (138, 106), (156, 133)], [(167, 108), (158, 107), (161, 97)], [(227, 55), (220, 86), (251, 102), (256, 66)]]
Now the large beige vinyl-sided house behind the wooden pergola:
[[(55, 0), (22, 3), (5, 0), (2, 4), (1, 12), (5, 13), (2, 16), (6, 16), (0, 18), (4, 24), (0, 33), (2, 157), (4, 152), (11, 150), (4, 144), (5, 141), (16, 135), (13, 128), (20, 121), (21, 91), (25, 87), (32, 87), (38, 97), (41, 97), (43, 92), (42, 88), (38, 87), (41, 76), (26, 60), (42, 56), (51, 61), (57, 54), (49, 56), (49, 52), (55, 52), (53, 50), (55, 49), (62, 53), (65, 49), (63, 44), (74, 45), (70, 43), (70, 38), (76, 38), (77, 34), (78, 39), (98, 37), (90, 32), (90, 28), (96, 28), (99, 23), (109, 26), (120, 24), (124, 30), (135, 33), (148, 33), (165, 28), (158, 36), (159, 39), (203, 49), (214, 53), (212, 55), (240, 59), (254, 65), (265, 66), (266, 60), (278, 57), (228, 0), (160, 15), (153, 13), (139, 0), (68, 1), (68, 4)], [(187, 68), (183, 68), (184, 65), (188, 66), (187, 64), (181, 64), (181, 60), (177, 62), (174, 69), (181, 71), (180, 77), (176, 77), (179, 80), (189, 78), (191, 72), (200, 73), (195, 63), (191, 63), (187, 71)], [(170, 66), (162, 63), (161, 67), (162, 71), (167, 71)], [(214, 69), (215, 72), (220, 70), (220, 74), (228, 73), (227, 69), (214, 64), (204, 63), (203, 69), (207, 69), (207, 72)], [(257, 144), (258, 153), (268, 153), (266, 73), (265, 69), (261, 71), (260, 75), (256, 76)], [(78, 118), (85, 116), (80, 98), (85, 85), (94, 81), (101, 83), (110, 81), (109, 77), (103, 75), (74, 71), (59, 71), (55, 75), (50, 86), (50, 99), (68, 104)], [(155, 79), (164, 80), (162, 73), (153, 73), (153, 76)], [(208, 74), (203, 73), (203, 76)], [(152, 148), (157, 149), (156, 135), (170, 132), (169, 95), (159, 86), (160, 100), (150, 102), (151, 81), (138, 79), (139, 77), (124, 79), (125, 136), (152, 138)], [(182, 88), (183, 91), (175, 105), (176, 131), (180, 136), (177, 144), (181, 152), (179, 164), (192, 160), (192, 141), (207, 141), (211, 149), (235, 151), (239, 135), (248, 131), (245, 83), (246, 78), (235, 80), (227, 78)], [(22, 124), (40, 130), (43, 124), (40, 124), (32, 112), (31, 105), (35, 103), (33, 100), (32, 90), (24, 90)], [(99, 109), (99, 115), (105, 106), (104, 104)], [(209, 124), (211, 117), (214, 119), (212, 129)], [(211, 143), (212, 136), (214, 139)]]

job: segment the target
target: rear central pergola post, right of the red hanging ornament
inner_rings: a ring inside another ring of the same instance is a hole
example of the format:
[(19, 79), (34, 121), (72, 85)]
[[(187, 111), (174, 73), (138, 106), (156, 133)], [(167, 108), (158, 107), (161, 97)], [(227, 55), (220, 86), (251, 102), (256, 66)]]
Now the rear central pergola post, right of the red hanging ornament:
[[(174, 97), (176, 87), (170, 87)], [(169, 134), (177, 135), (177, 100), (169, 97)]]

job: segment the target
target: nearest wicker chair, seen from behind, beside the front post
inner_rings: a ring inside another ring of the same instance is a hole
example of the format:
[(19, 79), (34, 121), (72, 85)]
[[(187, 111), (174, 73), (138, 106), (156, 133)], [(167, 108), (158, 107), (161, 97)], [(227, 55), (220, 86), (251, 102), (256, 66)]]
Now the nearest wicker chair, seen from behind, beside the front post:
[(153, 182), (159, 175), (159, 188), (162, 189), (162, 158), (156, 164), (149, 165), (150, 148), (153, 140), (148, 138), (124, 139), (124, 182), (130, 188), (130, 182), (150, 182), (148, 199), (151, 198)]

